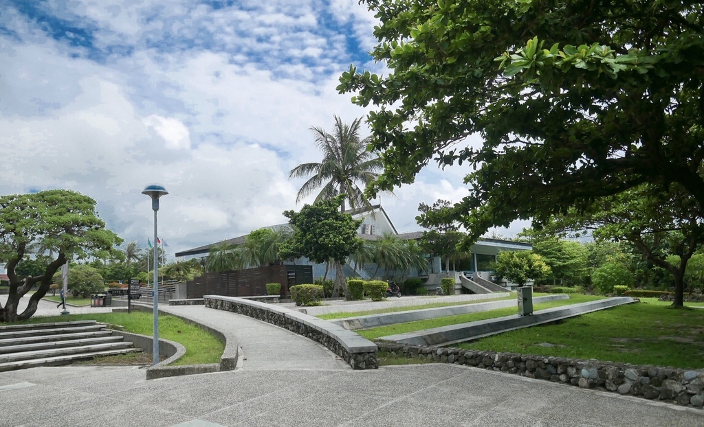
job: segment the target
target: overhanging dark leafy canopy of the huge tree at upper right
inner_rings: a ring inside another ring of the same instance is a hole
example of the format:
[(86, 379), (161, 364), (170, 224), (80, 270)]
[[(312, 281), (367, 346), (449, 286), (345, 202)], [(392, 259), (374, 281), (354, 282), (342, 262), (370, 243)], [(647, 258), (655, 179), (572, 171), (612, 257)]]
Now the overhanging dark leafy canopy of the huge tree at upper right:
[(702, 3), (362, 2), (390, 72), (351, 66), (338, 89), (376, 106), (384, 173), (371, 195), (435, 159), (469, 166), (455, 215), (474, 237), (646, 182), (679, 184), (701, 211)]

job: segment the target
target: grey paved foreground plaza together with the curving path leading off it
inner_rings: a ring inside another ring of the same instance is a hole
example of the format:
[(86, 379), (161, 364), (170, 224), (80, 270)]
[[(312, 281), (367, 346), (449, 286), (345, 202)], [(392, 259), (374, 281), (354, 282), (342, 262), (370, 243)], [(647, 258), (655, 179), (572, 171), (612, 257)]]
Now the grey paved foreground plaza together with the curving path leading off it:
[(0, 427), (704, 426), (701, 409), (472, 367), (353, 371), (276, 326), (205, 307), (164, 308), (237, 339), (239, 368), (149, 381), (139, 367), (4, 372)]

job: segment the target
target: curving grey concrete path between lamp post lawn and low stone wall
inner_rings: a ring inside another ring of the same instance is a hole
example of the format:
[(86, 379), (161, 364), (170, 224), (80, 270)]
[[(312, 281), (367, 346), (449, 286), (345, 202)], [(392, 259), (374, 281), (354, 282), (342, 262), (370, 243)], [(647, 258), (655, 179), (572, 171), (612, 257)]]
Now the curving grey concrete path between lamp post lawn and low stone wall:
[(351, 369), (327, 348), (287, 329), (203, 305), (159, 305), (163, 312), (216, 329), (241, 348), (239, 369)]

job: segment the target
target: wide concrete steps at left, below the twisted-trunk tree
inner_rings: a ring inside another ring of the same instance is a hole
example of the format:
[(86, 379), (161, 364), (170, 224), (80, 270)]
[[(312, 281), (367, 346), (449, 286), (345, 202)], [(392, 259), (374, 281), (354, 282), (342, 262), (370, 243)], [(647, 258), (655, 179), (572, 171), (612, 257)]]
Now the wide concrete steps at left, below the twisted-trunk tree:
[(141, 351), (94, 320), (0, 326), (0, 372)]

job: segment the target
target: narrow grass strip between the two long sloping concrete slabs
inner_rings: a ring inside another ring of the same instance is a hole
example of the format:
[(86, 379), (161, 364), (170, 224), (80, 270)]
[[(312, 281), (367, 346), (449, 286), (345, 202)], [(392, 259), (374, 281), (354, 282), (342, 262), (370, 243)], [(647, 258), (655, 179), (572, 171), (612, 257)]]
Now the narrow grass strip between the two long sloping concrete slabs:
[[(601, 300), (603, 298), (604, 297), (602, 296), (595, 295), (570, 294), (569, 300), (541, 302), (539, 304), (534, 305), (534, 310), (545, 310), (547, 308), (579, 304), (579, 302)], [(382, 336), (396, 335), (397, 333), (406, 333), (413, 331), (421, 331), (423, 329), (439, 328), (440, 326), (455, 325), (460, 323), (466, 323), (468, 321), (494, 319), (496, 317), (510, 316), (511, 314), (518, 314), (517, 307), (500, 308), (498, 310), (489, 310), (488, 312), (459, 314), (457, 316), (438, 317), (436, 319), (409, 321), (407, 323), (389, 326), (379, 326), (378, 328), (364, 329), (356, 332), (367, 339), (375, 340)]]

